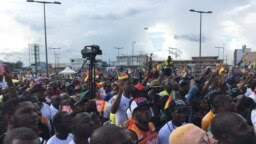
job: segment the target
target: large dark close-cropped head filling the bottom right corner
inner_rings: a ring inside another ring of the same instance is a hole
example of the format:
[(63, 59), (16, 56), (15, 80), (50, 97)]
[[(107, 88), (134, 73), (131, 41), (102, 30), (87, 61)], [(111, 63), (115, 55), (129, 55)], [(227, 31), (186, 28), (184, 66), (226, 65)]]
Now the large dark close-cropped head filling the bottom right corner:
[(234, 112), (217, 114), (211, 123), (214, 137), (223, 144), (255, 144), (254, 130), (246, 120)]

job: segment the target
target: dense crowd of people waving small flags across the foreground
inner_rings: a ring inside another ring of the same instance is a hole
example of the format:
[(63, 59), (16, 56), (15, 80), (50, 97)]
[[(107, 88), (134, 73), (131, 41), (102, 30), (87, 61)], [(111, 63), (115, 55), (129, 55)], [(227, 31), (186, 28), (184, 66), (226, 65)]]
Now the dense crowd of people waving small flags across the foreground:
[(256, 144), (254, 68), (152, 68), (84, 78), (20, 77), (4, 68), (3, 144)]

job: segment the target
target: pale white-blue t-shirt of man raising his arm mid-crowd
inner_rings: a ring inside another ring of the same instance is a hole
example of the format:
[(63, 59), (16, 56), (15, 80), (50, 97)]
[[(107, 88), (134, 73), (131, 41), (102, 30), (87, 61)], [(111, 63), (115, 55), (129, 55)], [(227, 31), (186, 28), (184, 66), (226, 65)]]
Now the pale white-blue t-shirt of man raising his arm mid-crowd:
[[(114, 99), (117, 98), (117, 95), (113, 97)], [(127, 121), (127, 116), (126, 116), (126, 110), (129, 107), (131, 99), (125, 97), (122, 95), (121, 100), (120, 100), (120, 105), (119, 108), (116, 112), (116, 125), (119, 126), (123, 122)]]

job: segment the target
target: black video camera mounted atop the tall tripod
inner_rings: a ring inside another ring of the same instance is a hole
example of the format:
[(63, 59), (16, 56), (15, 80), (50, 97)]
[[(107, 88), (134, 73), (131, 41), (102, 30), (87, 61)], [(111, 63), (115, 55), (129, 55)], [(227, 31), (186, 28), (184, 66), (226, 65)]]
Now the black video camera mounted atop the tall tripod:
[(98, 45), (85, 46), (81, 53), (83, 58), (92, 58), (97, 55), (102, 55), (102, 51)]

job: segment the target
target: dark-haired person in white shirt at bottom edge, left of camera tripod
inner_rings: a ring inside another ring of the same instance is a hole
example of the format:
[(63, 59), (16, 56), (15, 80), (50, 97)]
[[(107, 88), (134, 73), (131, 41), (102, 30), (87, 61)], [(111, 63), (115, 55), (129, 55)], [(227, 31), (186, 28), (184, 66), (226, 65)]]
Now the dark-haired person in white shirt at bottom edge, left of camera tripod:
[(73, 140), (73, 135), (70, 133), (70, 116), (67, 112), (58, 112), (53, 117), (53, 127), (56, 133), (47, 144), (69, 144)]

